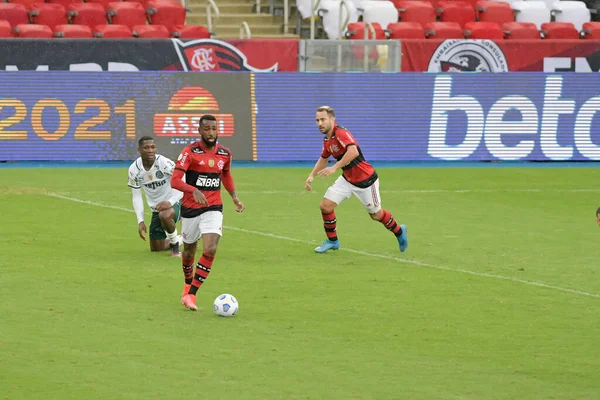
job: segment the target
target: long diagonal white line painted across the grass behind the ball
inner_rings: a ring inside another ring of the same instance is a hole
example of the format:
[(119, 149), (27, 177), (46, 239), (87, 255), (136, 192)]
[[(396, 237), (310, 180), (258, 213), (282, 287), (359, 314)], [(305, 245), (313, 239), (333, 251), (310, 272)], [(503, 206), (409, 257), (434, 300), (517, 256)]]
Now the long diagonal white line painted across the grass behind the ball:
[[(63, 200), (74, 201), (74, 202), (77, 202), (77, 203), (88, 204), (88, 205), (92, 205), (92, 206), (98, 206), (98, 207), (103, 207), (103, 208), (110, 208), (110, 209), (113, 209), (113, 210), (119, 210), (119, 211), (125, 211), (125, 212), (131, 212), (131, 213), (133, 213), (133, 210), (130, 209), (130, 208), (113, 206), (113, 205), (109, 205), (109, 204), (99, 203), (99, 202), (96, 202), (96, 201), (84, 200), (84, 199), (79, 199), (79, 198), (75, 198), (75, 197), (64, 196), (64, 195), (57, 194), (57, 193), (44, 193), (44, 194), (47, 195), (47, 196), (56, 197), (56, 198), (63, 199)], [(301, 240), (301, 239), (296, 239), (296, 238), (292, 238), (292, 237), (276, 235), (274, 233), (260, 232), (260, 231), (254, 231), (254, 230), (243, 229), (243, 228), (236, 228), (236, 227), (233, 227), (233, 226), (225, 226), (225, 228), (231, 229), (231, 230), (234, 230), (234, 231), (238, 231), (238, 232), (251, 233), (253, 235), (270, 237), (270, 238), (279, 239), (279, 240), (287, 240), (287, 241), (296, 242), (296, 243), (305, 243), (305, 244), (311, 244), (311, 245), (316, 243), (316, 242), (311, 242), (311, 241), (307, 241), (307, 240)], [(600, 294), (598, 294), (598, 293), (590, 293), (590, 292), (584, 292), (584, 291), (576, 290), (576, 289), (563, 288), (563, 287), (560, 287), (560, 286), (547, 285), (547, 284), (541, 283), (541, 282), (528, 281), (528, 280), (518, 279), (518, 278), (511, 278), (511, 277), (502, 276), (502, 275), (487, 274), (485, 272), (470, 271), (470, 270), (462, 269), (462, 268), (453, 268), (453, 267), (448, 267), (448, 266), (445, 266), (445, 265), (428, 264), (428, 263), (424, 263), (424, 262), (420, 262), (420, 261), (416, 261), (416, 260), (407, 260), (407, 259), (403, 259), (403, 258), (399, 258), (399, 257), (386, 256), (386, 255), (383, 255), (383, 254), (376, 254), (376, 253), (369, 253), (369, 252), (366, 252), (366, 251), (355, 250), (355, 249), (340, 248), (340, 250), (341, 251), (346, 251), (348, 253), (360, 254), (362, 256), (367, 256), (367, 257), (373, 257), (373, 258), (380, 258), (380, 259), (384, 259), (384, 260), (396, 261), (396, 262), (404, 263), (404, 264), (411, 264), (411, 265), (415, 265), (415, 266), (418, 266), (418, 267), (433, 268), (433, 269), (438, 269), (438, 270), (443, 270), (443, 271), (461, 272), (463, 274), (481, 276), (481, 277), (492, 278), (492, 279), (501, 279), (501, 280), (504, 280), (504, 281), (518, 282), (518, 283), (522, 283), (522, 284), (530, 285), (530, 286), (537, 286), (537, 287), (546, 288), (546, 289), (559, 290), (561, 292), (574, 293), (574, 294), (578, 294), (578, 295), (582, 295), (582, 296), (600, 298)]]

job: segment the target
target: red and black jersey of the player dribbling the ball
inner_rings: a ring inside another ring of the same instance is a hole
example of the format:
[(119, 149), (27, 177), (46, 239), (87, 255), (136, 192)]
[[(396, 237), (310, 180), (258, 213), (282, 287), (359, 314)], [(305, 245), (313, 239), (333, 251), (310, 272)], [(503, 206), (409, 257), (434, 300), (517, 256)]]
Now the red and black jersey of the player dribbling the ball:
[(200, 206), (194, 200), (192, 192), (184, 192), (181, 204), (181, 216), (196, 217), (206, 211), (223, 211), (221, 199), (221, 176), (231, 166), (231, 151), (220, 144), (206, 150), (198, 141), (186, 146), (175, 164), (176, 170), (185, 172), (185, 183), (202, 192), (208, 206)]

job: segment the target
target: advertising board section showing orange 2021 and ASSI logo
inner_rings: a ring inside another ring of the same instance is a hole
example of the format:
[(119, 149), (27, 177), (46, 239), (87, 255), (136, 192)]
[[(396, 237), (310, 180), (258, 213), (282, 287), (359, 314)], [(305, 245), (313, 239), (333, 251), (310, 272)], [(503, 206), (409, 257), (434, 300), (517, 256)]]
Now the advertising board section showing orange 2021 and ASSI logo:
[[(0, 161), (133, 160), (153, 136), (175, 158), (217, 117), (219, 141), (253, 157), (251, 75), (183, 72), (0, 74)], [(231, 92), (237, 93), (231, 96)]]

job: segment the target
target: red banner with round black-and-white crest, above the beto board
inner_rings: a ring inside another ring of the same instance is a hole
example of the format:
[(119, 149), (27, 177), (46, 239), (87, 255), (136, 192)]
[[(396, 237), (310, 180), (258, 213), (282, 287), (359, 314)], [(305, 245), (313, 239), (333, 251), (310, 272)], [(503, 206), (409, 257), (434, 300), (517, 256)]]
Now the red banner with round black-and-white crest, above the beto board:
[(402, 71), (598, 72), (598, 40), (402, 41)]

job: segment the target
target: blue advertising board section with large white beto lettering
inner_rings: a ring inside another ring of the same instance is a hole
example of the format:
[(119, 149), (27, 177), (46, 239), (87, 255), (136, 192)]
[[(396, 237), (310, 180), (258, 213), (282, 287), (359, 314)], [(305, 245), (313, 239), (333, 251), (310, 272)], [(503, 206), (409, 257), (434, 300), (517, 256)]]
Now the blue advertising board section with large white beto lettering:
[(318, 106), (371, 161), (600, 160), (600, 76), (256, 75), (260, 161), (316, 160)]

